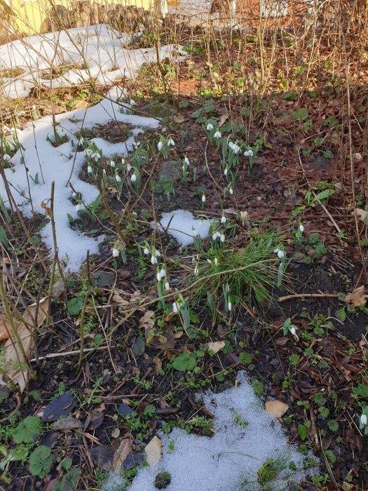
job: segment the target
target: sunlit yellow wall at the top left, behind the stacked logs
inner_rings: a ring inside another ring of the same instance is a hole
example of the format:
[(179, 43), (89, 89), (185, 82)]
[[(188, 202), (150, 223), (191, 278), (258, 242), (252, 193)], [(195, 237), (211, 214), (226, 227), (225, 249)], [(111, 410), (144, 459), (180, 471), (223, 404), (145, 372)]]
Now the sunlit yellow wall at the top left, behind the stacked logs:
[[(63, 5), (71, 8), (70, 0), (53, 0), (55, 5)], [(90, 0), (91, 6), (93, 0)], [(121, 4), (135, 5), (149, 10), (153, 8), (154, 0), (97, 0), (100, 4)], [(13, 8), (13, 27), (18, 32), (25, 34), (35, 34), (39, 32), (41, 23), (46, 18), (47, 12), (50, 10), (50, 0), (12, 0)]]

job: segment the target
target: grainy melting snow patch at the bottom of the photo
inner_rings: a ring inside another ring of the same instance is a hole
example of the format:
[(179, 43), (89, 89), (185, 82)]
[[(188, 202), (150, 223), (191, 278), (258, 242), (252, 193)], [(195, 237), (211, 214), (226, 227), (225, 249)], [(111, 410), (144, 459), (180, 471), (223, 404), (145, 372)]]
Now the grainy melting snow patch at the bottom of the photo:
[(182, 429), (162, 434), (161, 462), (140, 469), (130, 491), (156, 491), (155, 478), (163, 471), (171, 475), (166, 491), (258, 491), (257, 472), (268, 459), (278, 457), (284, 459), (285, 469), (266, 483), (267, 489), (287, 489), (287, 483), (301, 483), (306, 473), (318, 471), (318, 467), (304, 470), (306, 457), (296, 445), (289, 445), (278, 419), (264, 410), (245, 372), (238, 374), (237, 386), (219, 394), (209, 391), (203, 402), (213, 414), (214, 436), (189, 435)]

